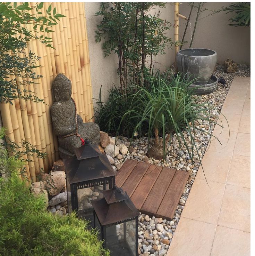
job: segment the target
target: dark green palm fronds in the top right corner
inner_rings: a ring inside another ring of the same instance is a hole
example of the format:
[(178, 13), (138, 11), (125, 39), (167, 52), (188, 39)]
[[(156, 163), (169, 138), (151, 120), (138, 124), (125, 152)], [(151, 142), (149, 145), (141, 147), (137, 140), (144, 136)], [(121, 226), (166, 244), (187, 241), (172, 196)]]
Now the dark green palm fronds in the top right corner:
[(249, 27), (250, 26), (250, 2), (231, 3), (228, 7), (223, 7), (226, 13), (235, 13), (235, 16), (230, 18), (229, 26)]

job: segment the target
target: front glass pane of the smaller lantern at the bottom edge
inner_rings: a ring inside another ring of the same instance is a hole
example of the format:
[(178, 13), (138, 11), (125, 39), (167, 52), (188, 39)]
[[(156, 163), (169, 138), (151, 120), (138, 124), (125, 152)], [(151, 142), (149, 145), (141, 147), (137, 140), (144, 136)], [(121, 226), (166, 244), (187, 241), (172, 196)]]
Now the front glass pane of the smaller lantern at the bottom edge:
[(105, 240), (111, 256), (135, 256), (135, 221), (107, 227)]

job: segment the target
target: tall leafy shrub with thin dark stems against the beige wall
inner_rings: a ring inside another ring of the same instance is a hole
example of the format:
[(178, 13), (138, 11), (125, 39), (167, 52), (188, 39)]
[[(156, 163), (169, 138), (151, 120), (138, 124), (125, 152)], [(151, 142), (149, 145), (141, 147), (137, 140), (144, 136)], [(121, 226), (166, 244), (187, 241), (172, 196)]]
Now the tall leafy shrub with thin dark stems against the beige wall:
[[(113, 51), (118, 55), (118, 74), (121, 90), (127, 89), (128, 79), (137, 84), (151, 74), (153, 57), (165, 54), (173, 42), (165, 35), (170, 23), (160, 18), (160, 11), (151, 15), (153, 7), (165, 7), (160, 2), (116, 2), (101, 3), (102, 21), (97, 25), (96, 42), (102, 43), (104, 55)], [(146, 57), (150, 59), (146, 66)]]

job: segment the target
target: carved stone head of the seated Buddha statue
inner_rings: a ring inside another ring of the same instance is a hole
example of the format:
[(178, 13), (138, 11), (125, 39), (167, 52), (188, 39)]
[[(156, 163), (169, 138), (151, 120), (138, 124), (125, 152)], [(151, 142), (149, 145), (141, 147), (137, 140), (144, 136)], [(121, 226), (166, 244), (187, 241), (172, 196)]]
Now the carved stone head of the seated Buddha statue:
[(72, 95), (71, 81), (64, 75), (58, 74), (52, 83), (56, 101), (67, 101)]

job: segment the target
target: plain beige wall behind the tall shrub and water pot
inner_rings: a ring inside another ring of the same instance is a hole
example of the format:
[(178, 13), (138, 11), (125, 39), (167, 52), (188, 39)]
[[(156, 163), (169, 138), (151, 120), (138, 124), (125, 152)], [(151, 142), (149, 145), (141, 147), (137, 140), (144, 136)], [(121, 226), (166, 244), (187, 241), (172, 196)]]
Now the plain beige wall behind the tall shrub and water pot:
[[(226, 2), (211, 2), (205, 3), (205, 7), (209, 10), (218, 10), (221, 6), (227, 6)], [(95, 12), (99, 10), (100, 2), (86, 2), (86, 22), (87, 33), (89, 40), (90, 51), (90, 65), (91, 65), (91, 79), (93, 88), (93, 97), (99, 97), (100, 86), (102, 85), (102, 99), (106, 100), (109, 90), (114, 83), (119, 86), (117, 77), (118, 58), (116, 54), (108, 57), (103, 56), (101, 45), (95, 43), (96, 24), (100, 22), (100, 17), (94, 16)], [(180, 5), (180, 13), (188, 16), (190, 7), (188, 3)], [(154, 14), (157, 10), (152, 10)], [(209, 11), (203, 12), (201, 17), (209, 14)], [(194, 37), (194, 48), (209, 48), (213, 49), (218, 54), (218, 62), (224, 62), (227, 58), (232, 58), (240, 64), (250, 63), (250, 28), (246, 27), (231, 27), (229, 24), (229, 17), (231, 14), (220, 12), (208, 16), (198, 22), (196, 33)], [(161, 8), (161, 18), (174, 24), (174, 4), (168, 2), (166, 8)], [(195, 11), (191, 18), (192, 28), (194, 27)], [(179, 35), (180, 39), (183, 35), (185, 23), (180, 19)], [(190, 39), (190, 30), (187, 30), (185, 40)], [(168, 36), (174, 39), (174, 29), (168, 31)], [(189, 43), (183, 48), (187, 48)], [(154, 68), (164, 71), (175, 62), (174, 47), (167, 49), (165, 55), (159, 55), (154, 59)], [(96, 101), (94, 100), (94, 103)]]

